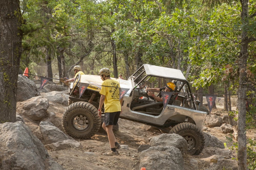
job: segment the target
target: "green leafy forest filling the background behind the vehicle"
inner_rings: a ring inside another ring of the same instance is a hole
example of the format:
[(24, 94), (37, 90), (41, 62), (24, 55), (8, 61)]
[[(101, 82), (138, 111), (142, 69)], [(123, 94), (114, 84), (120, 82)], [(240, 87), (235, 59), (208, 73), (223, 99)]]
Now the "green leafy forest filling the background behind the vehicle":
[[(22, 71), (63, 78), (72, 77), (75, 65), (86, 74), (108, 67), (112, 77), (128, 79), (147, 63), (182, 70), (195, 93), (238, 94), (238, 160), (239, 169), (246, 168), (244, 124), (252, 128), (256, 120), (255, 1), (21, 0), (19, 7), (11, 14), (20, 23), (15, 36), (22, 47), (13, 54), (21, 52)], [(231, 111), (229, 97), (224, 95), (224, 109)]]

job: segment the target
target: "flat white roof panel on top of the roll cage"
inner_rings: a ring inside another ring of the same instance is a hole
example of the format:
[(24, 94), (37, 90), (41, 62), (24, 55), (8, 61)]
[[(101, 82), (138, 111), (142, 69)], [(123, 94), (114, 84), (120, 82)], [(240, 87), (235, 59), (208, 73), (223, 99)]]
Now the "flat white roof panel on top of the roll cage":
[(182, 71), (177, 69), (171, 69), (167, 67), (153, 66), (150, 64), (143, 64), (146, 74), (152, 74), (156, 76), (169, 77), (170, 79), (182, 79), (186, 80)]

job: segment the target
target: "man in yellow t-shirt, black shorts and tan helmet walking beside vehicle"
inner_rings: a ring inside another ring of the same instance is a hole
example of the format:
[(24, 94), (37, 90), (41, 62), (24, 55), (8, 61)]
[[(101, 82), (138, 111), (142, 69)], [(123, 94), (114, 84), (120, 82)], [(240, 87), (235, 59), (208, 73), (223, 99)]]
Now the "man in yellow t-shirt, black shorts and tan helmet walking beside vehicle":
[(104, 122), (102, 128), (107, 132), (109, 138), (109, 144), (111, 151), (108, 153), (103, 153), (105, 156), (118, 155), (117, 149), (121, 146), (116, 141), (115, 135), (113, 133), (113, 125), (116, 125), (119, 119), (119, 115), (122, 112), (121, 104), (123, 98), (119, 101), (119, 87), (120, 84), (117, 80), (110, 78), (110, 70), (108, 68), (100, 69), (99, 75), (101, 76), (101, 90), (100, 90), (100, 104), (98, 109), (98, 115), (101, 117), (101, 107), (104, 102)]

